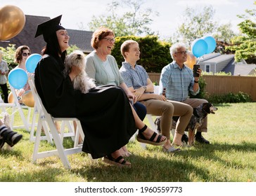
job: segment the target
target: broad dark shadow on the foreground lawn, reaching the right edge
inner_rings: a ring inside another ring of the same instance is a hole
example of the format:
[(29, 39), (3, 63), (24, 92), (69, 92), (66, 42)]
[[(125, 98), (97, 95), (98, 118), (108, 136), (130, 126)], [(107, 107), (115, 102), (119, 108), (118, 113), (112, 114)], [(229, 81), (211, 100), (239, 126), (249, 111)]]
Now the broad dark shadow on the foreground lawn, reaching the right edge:
[[(207, 169), (207, 165), (202, 167), (193, 164), (193, 160), (204, 160), (206, 163), (215, 162), (236, 169), (244, 167), (244, 165), (233, 160), (230, 160), (230, 162), (223, 160), (216, 155), (217, 151), (248, 153), (250, 151), (255, 152), (256, 146), (247, 142), (243, 142), (243, 144), (198, 145), (193, 149), (189, 148), (175, 155), (171, 154), (160, 158), (132, 155), (128, 158), (132, 162), (131, 169), (118, 168), (98, 162), (97, 164), (84, 165), (79, 169), (71, 169), (71, 172), (84, 176), (87, 181), (97, 182), (190, 182), (195, 181), (195, 179), (198, 179), (198, 181), (227, 181), (225, 177), (222, 178), (225, 174), (223, 176), (212, 176)], [(251, 165), (250, 168), (255, 169), (255, 165)]]

